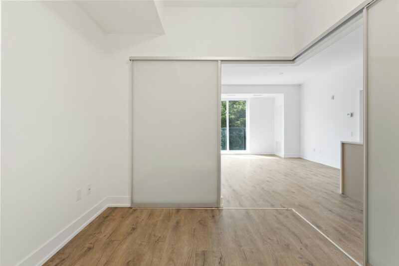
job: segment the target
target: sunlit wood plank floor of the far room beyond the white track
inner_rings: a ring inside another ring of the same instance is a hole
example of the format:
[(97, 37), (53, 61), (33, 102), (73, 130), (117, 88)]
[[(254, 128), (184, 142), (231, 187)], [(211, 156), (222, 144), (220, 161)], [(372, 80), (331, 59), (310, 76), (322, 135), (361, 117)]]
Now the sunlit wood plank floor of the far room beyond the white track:
[(340, 191), (340, 170), (299, 158), (223, 155), (224, 207), (292, 208), (358, 262), (363, 204)]

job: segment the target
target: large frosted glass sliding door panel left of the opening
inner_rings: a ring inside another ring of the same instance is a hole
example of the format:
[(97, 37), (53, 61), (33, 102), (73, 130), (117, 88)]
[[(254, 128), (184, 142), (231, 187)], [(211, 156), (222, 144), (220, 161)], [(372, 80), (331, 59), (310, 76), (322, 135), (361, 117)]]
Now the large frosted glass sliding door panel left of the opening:
[(132, 64), (133, 206), (217, 207), (219, 62)]

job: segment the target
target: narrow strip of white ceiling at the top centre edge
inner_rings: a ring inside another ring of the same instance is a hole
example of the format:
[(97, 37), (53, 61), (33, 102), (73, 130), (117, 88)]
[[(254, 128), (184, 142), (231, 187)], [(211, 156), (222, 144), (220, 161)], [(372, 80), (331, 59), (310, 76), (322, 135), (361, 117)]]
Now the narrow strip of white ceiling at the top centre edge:
[(164, 0), (167, 7), (295, 7), (299, 0)]

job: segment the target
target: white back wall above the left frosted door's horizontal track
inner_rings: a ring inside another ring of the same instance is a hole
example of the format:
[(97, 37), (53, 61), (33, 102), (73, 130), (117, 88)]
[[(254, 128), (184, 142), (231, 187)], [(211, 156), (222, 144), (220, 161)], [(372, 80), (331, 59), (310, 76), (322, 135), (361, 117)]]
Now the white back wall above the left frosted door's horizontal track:
[(294, 53), (294, 8), (165, 7), (163, 15), (165, 34), (107, 34), (107, 50), (122, 60)]

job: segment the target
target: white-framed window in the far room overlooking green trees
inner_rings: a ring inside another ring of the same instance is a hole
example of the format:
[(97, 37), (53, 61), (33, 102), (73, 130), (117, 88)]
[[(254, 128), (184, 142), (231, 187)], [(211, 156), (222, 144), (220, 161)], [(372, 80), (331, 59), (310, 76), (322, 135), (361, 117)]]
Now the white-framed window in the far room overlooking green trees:
[[(228, 125), (228, 126), (227, 126)], [(221, 102), (220, 149), (246, 150), (246, 101)]]

